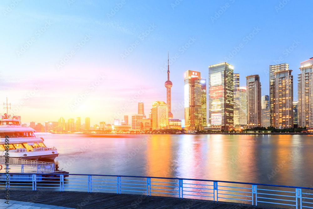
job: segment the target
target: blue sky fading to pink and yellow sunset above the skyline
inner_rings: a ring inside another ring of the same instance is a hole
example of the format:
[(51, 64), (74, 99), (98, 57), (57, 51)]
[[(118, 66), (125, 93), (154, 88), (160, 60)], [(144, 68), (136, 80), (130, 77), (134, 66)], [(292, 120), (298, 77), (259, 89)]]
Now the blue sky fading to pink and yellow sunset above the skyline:
[[(170, 56), (172, 113), (183, 119), (186, 70), (208, 77), (228, 62), (258, 74), (269, 94), (269, 65), (294, 76), (313, 57), (310, 0), (94, 1), (2, 0), (0, 102), (22, 123), (90, 117), (91, 124), (137, 113), (143, 101), (166, 101)], [(176, 57), (175, 57), (176, 56)], [(6, 111), (5, 109), (3, 111)]]

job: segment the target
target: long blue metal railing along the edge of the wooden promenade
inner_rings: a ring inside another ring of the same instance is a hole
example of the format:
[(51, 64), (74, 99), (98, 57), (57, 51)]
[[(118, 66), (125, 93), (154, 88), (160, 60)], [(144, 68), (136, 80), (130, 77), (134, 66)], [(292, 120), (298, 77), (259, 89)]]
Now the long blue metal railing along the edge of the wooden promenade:
[(32, 176), (11, 174), (10, 181), (13, 183), (10, 182), (9, 186), (11, 189), (23, 187), (33, 191), (40, 188), (54, 191), (114, 192), (231, 201), (255, 206), (313, 208), (313, 188), (309, 187), (147, 176), (54, 175), (57, 177), (45, 177), (38, 173)]

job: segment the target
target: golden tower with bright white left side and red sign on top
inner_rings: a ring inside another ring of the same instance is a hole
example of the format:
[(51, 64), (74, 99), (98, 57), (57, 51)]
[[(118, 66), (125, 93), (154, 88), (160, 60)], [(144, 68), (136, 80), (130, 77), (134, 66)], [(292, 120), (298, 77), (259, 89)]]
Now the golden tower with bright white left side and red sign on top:
[(202, 85), (200, 72), (185, 71), (185, 129), (193, 130), (196, 126), (202, 129)]

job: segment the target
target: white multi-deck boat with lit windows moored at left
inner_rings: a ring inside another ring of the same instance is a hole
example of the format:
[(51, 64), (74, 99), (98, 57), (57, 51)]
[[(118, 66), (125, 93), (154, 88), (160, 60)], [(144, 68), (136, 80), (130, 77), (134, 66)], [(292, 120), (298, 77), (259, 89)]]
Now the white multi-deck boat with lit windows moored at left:
[[(35, 136), (34, 132), (33, 128), (22, 126), (19, 119), (4, 114), (0, 119), (0, 156), (5, 156), (5, 150), (8, 150), (10, 158), (54, 160), (59, 155), (58, 150), (47, 147), (44, 139)], [(6, 136), (9, 137), (9, 145), (5, 142)]]

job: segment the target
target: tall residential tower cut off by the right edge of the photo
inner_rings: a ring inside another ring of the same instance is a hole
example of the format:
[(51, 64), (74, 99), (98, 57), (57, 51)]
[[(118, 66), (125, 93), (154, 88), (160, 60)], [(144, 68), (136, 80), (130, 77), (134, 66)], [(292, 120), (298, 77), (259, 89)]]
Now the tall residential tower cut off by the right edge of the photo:
[(298, 127), (313, 127), (313, 57), (301, 62), (298, 75)]

